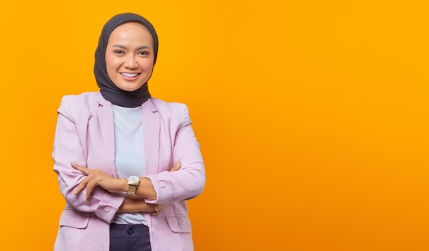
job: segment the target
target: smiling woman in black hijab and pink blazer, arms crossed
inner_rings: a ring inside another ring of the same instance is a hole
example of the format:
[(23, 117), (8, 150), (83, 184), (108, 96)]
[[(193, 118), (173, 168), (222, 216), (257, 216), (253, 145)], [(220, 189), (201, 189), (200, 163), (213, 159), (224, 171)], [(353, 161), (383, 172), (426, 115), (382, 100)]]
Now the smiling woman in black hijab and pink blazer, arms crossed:
[(205, 185), (186, 105), (151, 98), (154, 27), (125, 13), (95, 51), (100, 92), (64, 96), (53, 146), (66, 207), (54, 250), (193, 250), (186, 200)]

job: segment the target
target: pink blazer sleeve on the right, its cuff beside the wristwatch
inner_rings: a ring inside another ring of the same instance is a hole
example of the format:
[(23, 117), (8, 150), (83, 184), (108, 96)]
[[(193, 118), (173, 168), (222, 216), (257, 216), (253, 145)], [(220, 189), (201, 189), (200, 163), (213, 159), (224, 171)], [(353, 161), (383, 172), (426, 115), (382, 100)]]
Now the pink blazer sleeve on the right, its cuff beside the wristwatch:
[(175, 136), (172, 139), (173, 163), (180, 161), (182, 168), (175, 172), (165, 171), (146, 176), (151, 180), (157, 194), (156, 200), (147, 199), (148, 203), (168, 204), (188, 200), (201, 194), (206, 184), (204, 161), (191, 127), (188, 107), (180, 104), (179, 112), (173, 112), (174, 114), (180, 116), (177, 120), (181, 122), (170, 134)]

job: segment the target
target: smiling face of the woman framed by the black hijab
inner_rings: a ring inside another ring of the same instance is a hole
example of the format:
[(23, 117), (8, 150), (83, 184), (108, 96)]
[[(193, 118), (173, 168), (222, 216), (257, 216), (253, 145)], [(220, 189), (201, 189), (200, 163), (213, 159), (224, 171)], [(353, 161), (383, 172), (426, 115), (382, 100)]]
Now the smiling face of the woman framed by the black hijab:
[(116, 27), (106, 48), (106, 69), (113, 83), (122, 90), (137, 90), (153, 68), (154, 42), (147, 28), (136, 22)]

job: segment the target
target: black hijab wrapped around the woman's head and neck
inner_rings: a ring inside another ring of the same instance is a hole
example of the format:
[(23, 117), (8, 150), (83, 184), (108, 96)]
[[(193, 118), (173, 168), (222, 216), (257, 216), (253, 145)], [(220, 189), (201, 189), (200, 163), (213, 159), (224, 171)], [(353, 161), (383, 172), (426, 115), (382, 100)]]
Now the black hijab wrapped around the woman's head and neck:
[(106, 70), (106, 47), (112, 31), (127, 22), (138, 22), (145, 25), (149, 29), (152, 39), (154, 40), (154, 64), (156, 62), (156, 55), (158, 54), (158, 36), (154, 26), (149, 23), (143, 16), (133, 13), (118, 14), (110, 18), (110, 20), (104, 25), (99, 38), (98, 47), (95, 50), (95, 64), (94, 64), (94, 75), (97, 85), (100, 88), (101, 95), (106, 100), (110, 101), (113, 105), (119, 105), (122, 107), (138, 107), (145, 103), (151, 95), (147, 88), (147, 82), (140, 88), (134, 91), (125, 91), (114, 85)]

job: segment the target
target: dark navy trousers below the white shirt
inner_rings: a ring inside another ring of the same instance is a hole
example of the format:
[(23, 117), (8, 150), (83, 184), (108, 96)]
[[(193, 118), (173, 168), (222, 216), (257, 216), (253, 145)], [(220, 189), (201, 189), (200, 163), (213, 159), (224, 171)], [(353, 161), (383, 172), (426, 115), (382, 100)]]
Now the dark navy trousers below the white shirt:
[(110, 224), (110, 251), (151, 251), (149, 228), (143, 224)]

